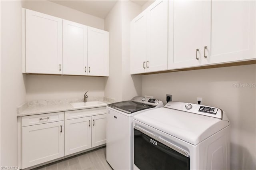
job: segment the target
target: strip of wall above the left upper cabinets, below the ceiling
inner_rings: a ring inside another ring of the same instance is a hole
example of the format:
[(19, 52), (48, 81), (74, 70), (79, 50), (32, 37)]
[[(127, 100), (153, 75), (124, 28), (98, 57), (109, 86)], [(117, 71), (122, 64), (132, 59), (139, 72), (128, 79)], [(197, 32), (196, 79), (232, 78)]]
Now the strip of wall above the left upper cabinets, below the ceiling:
[(47, 0), (24, 0), (22, 7), (104, 30), (104, 19)]

